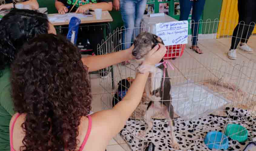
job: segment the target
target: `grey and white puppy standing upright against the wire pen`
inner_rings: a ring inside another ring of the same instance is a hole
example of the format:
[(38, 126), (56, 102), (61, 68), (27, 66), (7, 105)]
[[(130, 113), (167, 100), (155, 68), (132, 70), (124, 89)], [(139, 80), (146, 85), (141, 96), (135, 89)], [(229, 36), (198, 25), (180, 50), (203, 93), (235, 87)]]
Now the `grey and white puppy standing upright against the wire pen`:
[[(150, 72), (145, 92), (147, 94), (147, 100), (149, 101), (147, 111), (145, 114), (145, 120), (148, 124), (148, 128), (145, 131), (139, 133), (139, 137), (145, 137), (149, 130), (152, 129), (153, 123), (151, 117), (156, 114), (163, 114), (168, 120), (168, 124), (171, 127), (170, 137), (172, 140), (172, 146), (174, 149), (178, 149), (178, 143), (174, 135), (174, 110), (171, 104), (171, 82), (168, 77), (167, 69), (161, 64), (158, 67), (141, 65), (144, 61), (145, 55), (158, 43), (164, 44), (162, 39), (154, 34), (143, 32), (139, 34), (134, 40), (134, 50), (132, 55), (136, 58), (140, 66), (137, 68), (137, 72), (145, 73)], [(162, 59), (161, 62), (164, 60)], [(163, 83), (163, 76), (165, 70), (165, 81)], [(162, 91), (162, 85), (164, 86)]]

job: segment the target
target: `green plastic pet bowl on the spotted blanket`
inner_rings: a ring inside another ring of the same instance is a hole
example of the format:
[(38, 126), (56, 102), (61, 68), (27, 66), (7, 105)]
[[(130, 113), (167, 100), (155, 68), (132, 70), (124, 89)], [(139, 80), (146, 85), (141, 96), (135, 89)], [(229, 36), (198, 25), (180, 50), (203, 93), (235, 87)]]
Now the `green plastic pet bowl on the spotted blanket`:
[(238, 142), (244, 142), (248, 138), (248, 130), (238, 124), (228, 124), (225, 135)]

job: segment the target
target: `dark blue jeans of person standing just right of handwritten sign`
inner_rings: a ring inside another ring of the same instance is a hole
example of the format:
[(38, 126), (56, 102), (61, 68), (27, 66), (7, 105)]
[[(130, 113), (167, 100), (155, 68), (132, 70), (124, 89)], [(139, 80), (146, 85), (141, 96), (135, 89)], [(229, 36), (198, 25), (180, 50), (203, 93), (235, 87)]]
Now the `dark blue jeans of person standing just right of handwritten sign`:
[(205, 0), (180, 0), (181, 14), (180, 21), (188, 20), (190, 10), (193, 6), (192, 18), (191, 18), (191, 31), (192, 31), (192, 46), (197, 45), (199, 20), (204, 10)]

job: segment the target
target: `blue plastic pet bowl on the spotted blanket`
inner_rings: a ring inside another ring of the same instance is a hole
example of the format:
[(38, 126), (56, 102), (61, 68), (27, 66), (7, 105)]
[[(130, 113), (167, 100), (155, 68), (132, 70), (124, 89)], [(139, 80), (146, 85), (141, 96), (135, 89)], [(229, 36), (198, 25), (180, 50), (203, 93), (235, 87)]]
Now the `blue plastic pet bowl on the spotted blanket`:
[(221, 132), (213, 131), (207, 133), (204, 138), (204, 143), (209, 149), (228, 149), (228, 137)]

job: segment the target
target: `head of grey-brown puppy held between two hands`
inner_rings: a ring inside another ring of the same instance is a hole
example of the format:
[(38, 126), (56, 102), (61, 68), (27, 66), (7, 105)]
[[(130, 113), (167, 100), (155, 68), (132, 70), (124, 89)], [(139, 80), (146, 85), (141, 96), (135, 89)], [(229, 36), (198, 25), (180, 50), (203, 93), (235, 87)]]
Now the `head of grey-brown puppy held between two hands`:
[(141, 63), (143, 62), (145, 55), (147, 55), (148, 52), (158, 43), (164, 44), (163, 40), (157, 35), (143, 32), (139, 34), (133, 42), (134, 49), (132, 51), (132, 55), (135, 57), (137, 62)]

